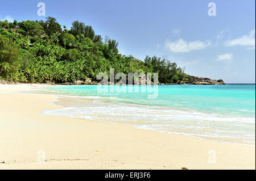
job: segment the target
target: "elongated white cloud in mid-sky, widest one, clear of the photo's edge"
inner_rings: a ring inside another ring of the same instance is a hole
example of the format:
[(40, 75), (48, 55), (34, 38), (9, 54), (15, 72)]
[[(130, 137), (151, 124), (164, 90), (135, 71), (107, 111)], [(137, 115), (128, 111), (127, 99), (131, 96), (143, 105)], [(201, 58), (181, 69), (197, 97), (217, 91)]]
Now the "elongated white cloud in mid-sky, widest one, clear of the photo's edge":
[(179, 39), (177, 41), (166, 40), (165, 47), (174, 53), (187, 53), (193, 50), (200, 50), (211, 45), (210, 41), (185, 41)]

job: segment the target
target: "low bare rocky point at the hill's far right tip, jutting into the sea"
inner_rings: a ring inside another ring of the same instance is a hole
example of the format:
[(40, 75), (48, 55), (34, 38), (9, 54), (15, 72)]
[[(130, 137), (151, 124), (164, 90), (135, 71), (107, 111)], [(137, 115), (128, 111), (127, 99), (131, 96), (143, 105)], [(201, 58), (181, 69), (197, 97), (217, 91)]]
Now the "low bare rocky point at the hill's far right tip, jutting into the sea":
[(222, 79), (213, 80), (210, 78), (195, 77), (195, 76), (186, 77), (184, 80), (184, 83), (189, 85), (225, 85)]

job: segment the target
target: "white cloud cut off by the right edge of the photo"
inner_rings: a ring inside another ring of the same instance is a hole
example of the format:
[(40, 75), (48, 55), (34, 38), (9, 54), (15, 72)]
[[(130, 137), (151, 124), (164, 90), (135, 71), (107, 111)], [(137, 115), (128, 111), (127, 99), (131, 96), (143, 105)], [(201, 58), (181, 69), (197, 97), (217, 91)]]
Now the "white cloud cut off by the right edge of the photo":
[(249, 49), (255, 49), (255, 29), (251, 30), (249, 35), (243, 35), (237, 39), (229, 40), (225, 42), (227, 47), (232, 47), (236, 45), (249, 46)]

